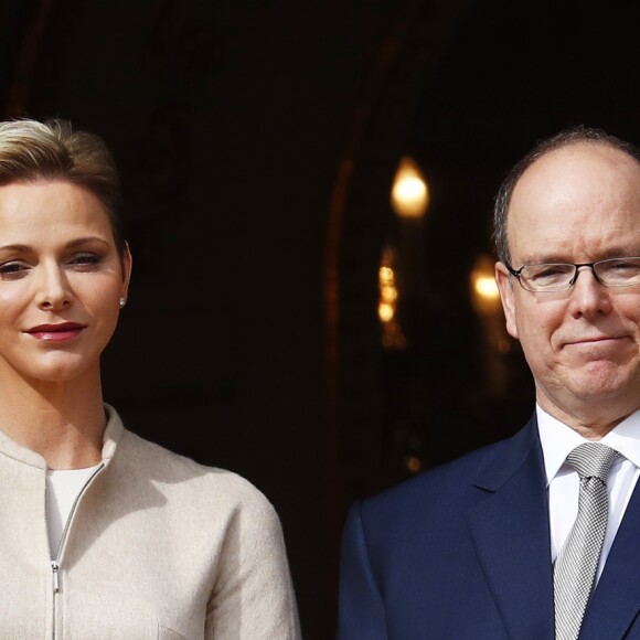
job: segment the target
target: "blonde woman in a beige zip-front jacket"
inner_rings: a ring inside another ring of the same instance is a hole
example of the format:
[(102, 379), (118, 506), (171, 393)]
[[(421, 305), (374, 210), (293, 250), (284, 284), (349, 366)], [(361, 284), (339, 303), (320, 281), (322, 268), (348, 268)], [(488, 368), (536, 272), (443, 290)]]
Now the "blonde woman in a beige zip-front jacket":
[(131, 277), (118, 204), (99, 138), (0, 124), (0, 637), (297, 639), (267, 500), (104, 404)]

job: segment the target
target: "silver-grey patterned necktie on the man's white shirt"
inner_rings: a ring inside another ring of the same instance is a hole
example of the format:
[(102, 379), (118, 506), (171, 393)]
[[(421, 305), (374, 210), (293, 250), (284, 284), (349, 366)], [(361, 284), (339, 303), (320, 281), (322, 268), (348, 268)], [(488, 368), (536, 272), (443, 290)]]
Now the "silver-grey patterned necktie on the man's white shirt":
[(580, 478), (580, 495), (578, 515), (554, 567), (556, 640), (576, 640), (580, 632), (607, 530), (607, 478), (618, 457), (600, 442), (585, 442), (567, 456)]

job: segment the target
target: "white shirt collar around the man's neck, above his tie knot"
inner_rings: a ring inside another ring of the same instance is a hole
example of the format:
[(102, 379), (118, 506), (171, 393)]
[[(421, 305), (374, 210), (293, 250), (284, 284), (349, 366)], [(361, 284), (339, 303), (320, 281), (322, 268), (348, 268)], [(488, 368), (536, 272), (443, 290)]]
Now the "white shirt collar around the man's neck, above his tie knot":
[[(557, 476), (572, 450), (588, 440), (583, 438), (576, 430), (548, 415), (540, 405), (535, 406), (535, 412), (548, 487), (548, 483)], [(640, 468), (640, 410), (625, 418), (600, 441), (616, 449), (627, 460)]]

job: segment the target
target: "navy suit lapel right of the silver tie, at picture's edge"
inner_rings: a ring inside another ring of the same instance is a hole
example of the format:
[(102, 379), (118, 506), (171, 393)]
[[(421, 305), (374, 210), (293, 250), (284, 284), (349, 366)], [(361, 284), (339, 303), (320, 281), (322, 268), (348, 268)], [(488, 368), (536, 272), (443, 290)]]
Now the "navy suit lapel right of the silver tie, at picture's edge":
[(580, 639), (626, 637), (640, 609), (640, 487), (636, 484), (589, 602)]

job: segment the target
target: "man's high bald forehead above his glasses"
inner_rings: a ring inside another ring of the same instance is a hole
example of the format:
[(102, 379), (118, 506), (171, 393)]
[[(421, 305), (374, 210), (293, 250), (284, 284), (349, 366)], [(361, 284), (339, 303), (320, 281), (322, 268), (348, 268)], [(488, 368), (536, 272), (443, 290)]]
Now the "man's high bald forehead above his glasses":
[(531, 166), (513, 191), (508, 221), (513, 259), (591, 250), (601, 257), (622, 241), (637, 252), (639, 233), (640, 164), (610, 146), (554, 150)]

